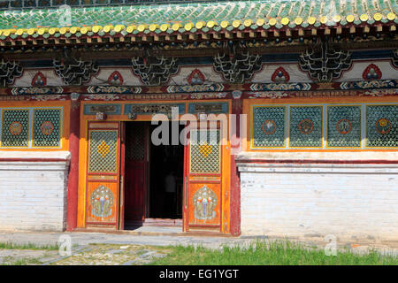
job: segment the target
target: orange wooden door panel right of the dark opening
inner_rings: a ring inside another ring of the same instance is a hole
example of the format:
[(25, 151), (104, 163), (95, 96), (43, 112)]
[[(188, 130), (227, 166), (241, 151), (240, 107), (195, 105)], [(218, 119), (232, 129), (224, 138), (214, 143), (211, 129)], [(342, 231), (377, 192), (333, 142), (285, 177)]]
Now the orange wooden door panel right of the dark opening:
[(191, 129), (185, 152), (184, 231), (221, 228), (220, 129)]

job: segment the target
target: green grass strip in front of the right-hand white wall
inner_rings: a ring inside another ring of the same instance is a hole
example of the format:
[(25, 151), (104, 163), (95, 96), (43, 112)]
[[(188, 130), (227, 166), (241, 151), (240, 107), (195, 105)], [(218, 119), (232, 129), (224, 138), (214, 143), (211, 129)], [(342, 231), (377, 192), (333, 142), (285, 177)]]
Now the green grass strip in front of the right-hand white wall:
[(203, 247), (167, 247), (168, 256), (151, 264), (187, 265), (397, 265), (397, 256), (382, 256), (371, 250), (358, 255), (341, 250), (336, 256), (326, 256), (323, 249), (304, 248), (289, 241), (253, 242), (249, 248), (223, 247), (220, 250)]

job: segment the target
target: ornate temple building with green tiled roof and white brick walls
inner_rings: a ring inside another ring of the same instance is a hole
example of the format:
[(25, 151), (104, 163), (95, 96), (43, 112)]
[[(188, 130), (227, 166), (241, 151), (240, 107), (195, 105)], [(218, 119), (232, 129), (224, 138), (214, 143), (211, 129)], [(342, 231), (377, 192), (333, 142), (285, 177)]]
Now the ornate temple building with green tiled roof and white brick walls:
[(395, 0), (0, 1), (0, 229), (398, 240), (397, 24)]

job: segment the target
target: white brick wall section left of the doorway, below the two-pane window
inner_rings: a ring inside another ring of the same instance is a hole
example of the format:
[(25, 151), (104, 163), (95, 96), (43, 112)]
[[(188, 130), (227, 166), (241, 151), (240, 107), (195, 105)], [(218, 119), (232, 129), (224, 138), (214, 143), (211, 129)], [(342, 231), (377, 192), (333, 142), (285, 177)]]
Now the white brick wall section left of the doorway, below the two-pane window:
[[(69, 157), (64, 151), (0, 152), (0, 230), (65, 229)], [(32, 162), (29, 158), (63, 161)]]

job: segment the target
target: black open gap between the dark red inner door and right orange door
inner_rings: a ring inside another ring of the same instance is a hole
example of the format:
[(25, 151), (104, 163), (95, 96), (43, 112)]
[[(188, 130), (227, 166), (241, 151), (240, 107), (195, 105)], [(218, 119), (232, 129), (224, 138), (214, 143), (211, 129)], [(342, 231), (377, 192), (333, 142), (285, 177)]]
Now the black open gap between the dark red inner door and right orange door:
[[(172, 144), (172, 123), (180, 134), (184, 126), (169, 122), (169, 142), (149, 145), (149, 218), (182, 218), (184, 146)], [(150, 126), (150, 134), (156, 127)]]

